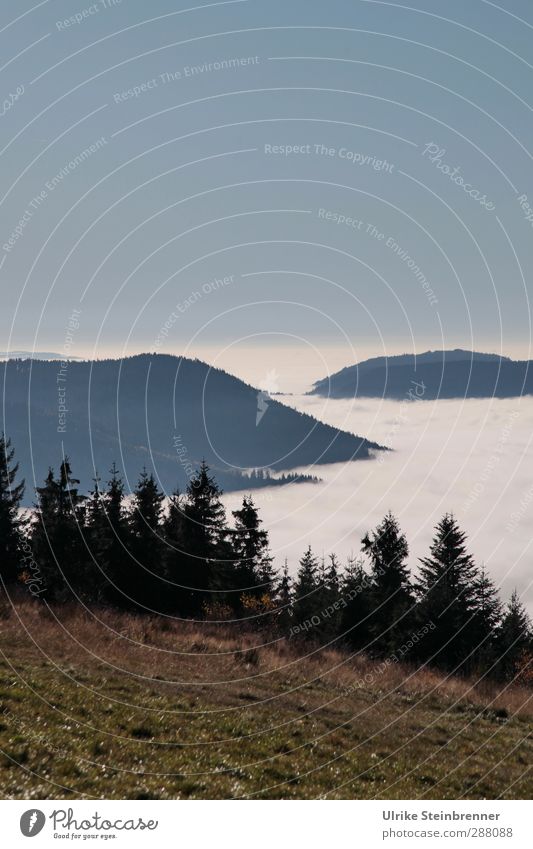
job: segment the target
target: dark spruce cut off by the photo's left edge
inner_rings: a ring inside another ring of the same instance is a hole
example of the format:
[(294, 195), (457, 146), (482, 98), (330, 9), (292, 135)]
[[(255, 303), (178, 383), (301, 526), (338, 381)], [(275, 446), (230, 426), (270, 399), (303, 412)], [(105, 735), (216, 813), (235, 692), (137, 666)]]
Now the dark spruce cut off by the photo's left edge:
[(16, 482), (19, 466), (14, 457), (10, 440), (0, 435), (0, 578), (6, 584), (17, 580), (22, 565), (20, 505), (24, 481)]

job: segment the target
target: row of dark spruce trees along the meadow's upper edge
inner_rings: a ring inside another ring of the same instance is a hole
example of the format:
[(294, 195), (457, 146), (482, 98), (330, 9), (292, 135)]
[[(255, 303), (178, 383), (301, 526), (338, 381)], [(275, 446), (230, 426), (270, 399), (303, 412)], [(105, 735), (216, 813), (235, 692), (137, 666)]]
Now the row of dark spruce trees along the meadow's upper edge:
[(531, 683), (533, 633), (515, 591), (504, 606), (468, 552), (453, 514), (435, 528), (413, 575), (409, 546), (387, 513), (341, 567), (309, 547), (297, 573), (274, 566), (250, 495), (228, 524), (222, 492), (203, 462), (186, 492), (169, 498), (143, 470), (126, 495), (116, 468), (79, 491), (70, 461), (51, 468), (34, 510), (0, 436), (0, 576), (36, 600), (112, 606), (182, 618), (238, 621), (291, 640), (344, 645), (447, 672)]

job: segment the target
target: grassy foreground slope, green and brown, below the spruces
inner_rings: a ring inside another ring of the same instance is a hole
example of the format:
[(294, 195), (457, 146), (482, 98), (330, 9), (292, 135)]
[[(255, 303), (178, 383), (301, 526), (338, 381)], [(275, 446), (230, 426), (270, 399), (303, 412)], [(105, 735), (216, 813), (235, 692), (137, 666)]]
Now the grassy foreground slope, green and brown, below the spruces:
[(530, 691), (229, 625), (17, 611), (1, 622), (4, 798), (531, 797)]

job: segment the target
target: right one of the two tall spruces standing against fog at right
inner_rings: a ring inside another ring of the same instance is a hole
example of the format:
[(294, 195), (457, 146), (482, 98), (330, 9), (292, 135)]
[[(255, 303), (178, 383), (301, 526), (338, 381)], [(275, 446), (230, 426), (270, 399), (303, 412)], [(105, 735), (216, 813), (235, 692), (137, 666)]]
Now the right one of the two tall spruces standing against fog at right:
[(429, 557), (421, 558), (417, 592), (422, 624), (435, 626), (419, 646), (423, 656), (447, 670), (468, 669), (476, 646), (479, 574), (466, 534), (451, 513), (435, 529)]

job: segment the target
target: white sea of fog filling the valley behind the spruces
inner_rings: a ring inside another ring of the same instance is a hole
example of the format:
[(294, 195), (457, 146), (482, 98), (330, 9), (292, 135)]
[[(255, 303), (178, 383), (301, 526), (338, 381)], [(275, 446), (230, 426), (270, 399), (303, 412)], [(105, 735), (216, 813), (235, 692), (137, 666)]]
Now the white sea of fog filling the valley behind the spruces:
[[(316, 466), (323, 483), (254, 493), (272, 550), (291, 571), (307, 545), (318, 555), (358, 554), (360, 539), (391, 509), (424, 555), (440, 516), (453, 511), (471, 551), (507, 599), (518, 588), (533, 612), (533, 399), (279, 400), (394, 449), (369, 462)], [(268, 410), (261, 427), (268, 427)], [(225, 497), (234, 509), (242, 493)]]

